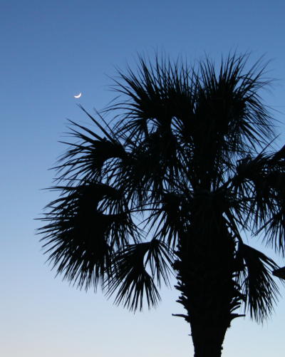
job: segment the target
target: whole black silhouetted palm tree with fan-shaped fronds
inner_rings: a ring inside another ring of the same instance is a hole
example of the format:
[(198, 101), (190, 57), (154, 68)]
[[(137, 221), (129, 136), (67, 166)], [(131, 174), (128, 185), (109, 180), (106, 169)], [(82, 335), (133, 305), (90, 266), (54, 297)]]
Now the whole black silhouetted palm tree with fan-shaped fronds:
[(138, 71), (119, 71), (119, 99), (103, 112), (113, 120), (82, 108), (95, 129), (71, 121), (76, 142), (41, 228), (59, 274), (130, 310), (155, 306), (173, 274), (195, 357), (221, 356), (240, 307), (263, 321), (278, 297), (278, 266), (242, 237), (285, 252), (285, 147), (269, 152), (274, 121), (259, 96), (269, 81), (247, 59), (216, 70), (140, 58)]

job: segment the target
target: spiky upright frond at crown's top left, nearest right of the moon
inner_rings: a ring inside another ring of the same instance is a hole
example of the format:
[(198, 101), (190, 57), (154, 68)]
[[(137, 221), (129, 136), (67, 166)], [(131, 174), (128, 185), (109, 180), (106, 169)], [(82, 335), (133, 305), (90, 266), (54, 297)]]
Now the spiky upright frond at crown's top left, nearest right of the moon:
[[(128, 132), (130, 138), (146, 138), (154, 128), (170, 127), (171, 120), (188, 108), (192, 103), (189, 69), (182, 63), (172, 63), (167, 58), (155, 64), (139, 58), (138, 73), (130, 70), (125, 75), (119, 72), (120, 79), (115, 81), (115, 90), (127, 95), (130, 101), (117, 103), (108, 110), (126, 110), (124, 125), (119, 122), (116, 128)], [(131, 120), (130, 120), (131, 119)]]

